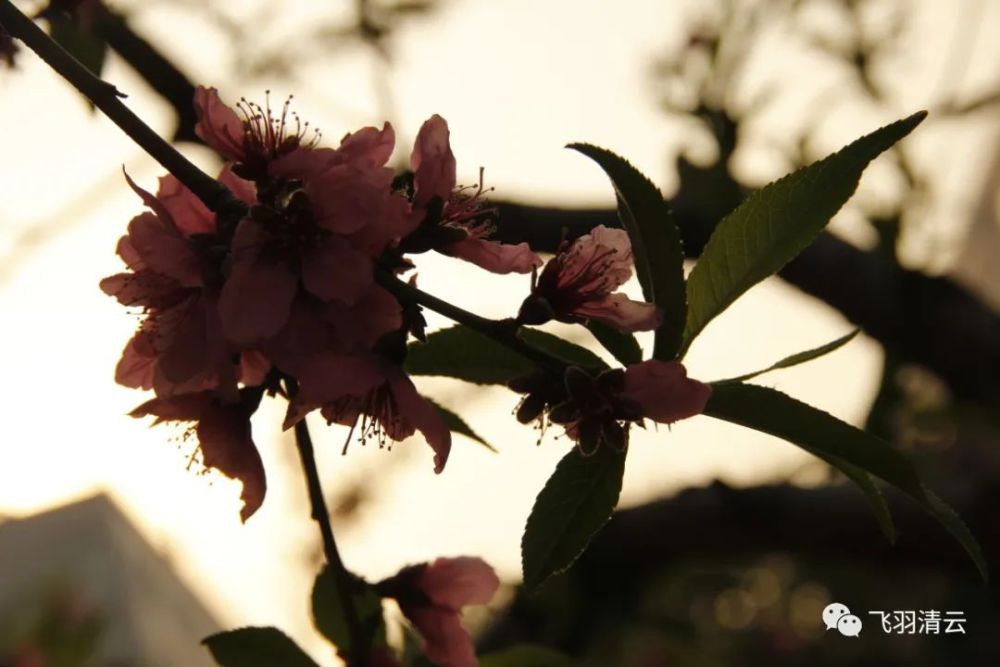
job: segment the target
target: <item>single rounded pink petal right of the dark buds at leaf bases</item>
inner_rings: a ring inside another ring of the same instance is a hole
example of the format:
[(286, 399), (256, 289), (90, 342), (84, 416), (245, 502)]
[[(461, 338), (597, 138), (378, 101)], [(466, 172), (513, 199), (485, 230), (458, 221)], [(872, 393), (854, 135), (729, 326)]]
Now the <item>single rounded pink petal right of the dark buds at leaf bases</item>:
[(701, 414), (712, 388), (692, 380), (677, 361), (649, 359), (625, 369), (624, 398), (642, 407), (643, 416), (670, 424)]

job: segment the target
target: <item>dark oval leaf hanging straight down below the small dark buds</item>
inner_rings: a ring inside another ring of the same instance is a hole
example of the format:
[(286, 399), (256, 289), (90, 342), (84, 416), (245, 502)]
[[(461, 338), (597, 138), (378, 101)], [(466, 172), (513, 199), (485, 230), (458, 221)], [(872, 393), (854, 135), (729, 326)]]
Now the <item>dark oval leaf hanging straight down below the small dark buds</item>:
[(621, 493), (625, 453), (571, 450), (535, 499), (521, 539), (524, 586), (533, 589), (573, 564), (611, 518)]

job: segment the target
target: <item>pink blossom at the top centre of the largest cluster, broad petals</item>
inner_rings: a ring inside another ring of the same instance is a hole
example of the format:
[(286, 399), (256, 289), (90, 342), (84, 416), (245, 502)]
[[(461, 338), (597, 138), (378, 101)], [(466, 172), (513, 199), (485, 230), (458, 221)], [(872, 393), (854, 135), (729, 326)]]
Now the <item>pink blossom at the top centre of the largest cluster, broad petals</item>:
[[(200, 90), (199, 99), (206, 140), (233, 159), (251, 159), (249, 139), (239, 144), (234, 138), (235, 112), (212, 90)], [(288, 137), (279, 141), (284, 115), (260, 121), (276, 128), (272, 134), (254, 130), (274, 145), (264, 151), (267, 164), (254, 172), (261, 183), (258, 205), (236, 227), (219, 298), (226, 337), (239, 345), (263, 344), (278, 334), (303, 292), (322, 302), (355, 304), (372, 289), (373, 260), (415, 225), (385, 167), (394, 142), (388, 123), (381, 131), (347, 135), (338, 149), (320, 149)], [(249, 120), (244, 125), (256, 127)]]

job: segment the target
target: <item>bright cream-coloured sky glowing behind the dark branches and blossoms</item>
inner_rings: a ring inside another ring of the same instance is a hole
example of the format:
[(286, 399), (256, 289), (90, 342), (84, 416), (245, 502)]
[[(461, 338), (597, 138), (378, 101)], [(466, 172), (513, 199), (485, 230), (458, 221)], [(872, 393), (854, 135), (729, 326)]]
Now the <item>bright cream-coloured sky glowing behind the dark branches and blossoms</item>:
[[(303, 12), (318, 6), (286, 4)], [(637, 0), (625, 3), (627, 10), (611, 10), (597, 0), (446, 3), (440, 15), (405, 29), (395, 43), (396, 64), (386, 83), (398, 121), (397, 158), (405, 159), (420, 123), (440, 113), (451, 124), (460, 180), (472, 182), (485, 166), (487, 184), (498, 196), (611, 205), (613, 194), (600, 170), (562, 148), (571, 141), (615, 150), (669, 191), (668, 150), (697, 151), (699, 142), (690, 127), (665, 119), (657, 109), (650, 62), (665, 44), (680, 39), (681, 19), (691, 15), (694, 4)], [(980, 4), (983, 21), (1000, 16), (996, 0)], [(253, 17), (254, 2), (233, 5), (234, 16)], [(213, 24), (182, 7), (150, 3), (137, 13), (136, 26), (195, 80), (219, 86), (228, 99), (259, 97), (266, 87), (278, 96), (294, 92), (296, 109), (321, 126), (328, 139), (380, 122), (384, 109), (373, 101), (372, 84), (378, 67), (370, 57), (319, 59), (302, 66), (293, 80), (239, 76), (231, 71), (232, 52), (213, 45), (218, 34)], [(959, 25), (948, 13), (935, 24), (940, 10), (928, 3), (920, 7), (915, 20), (921, 29)], [(289, 26), (293, 18), (285, 17)], [(275, 28), (278, 43), (284, 39), (281, 29)], [(948, 32), (940, 32), (945, 39)], [(935, 58), (943, 59), (943, 47), (934, 51), (929, 43), (931, 55), (921, 53), (914, 71), (918, 65), (924, 67), (919, 71), (940, 69)], [(262, 44), (263, 49), (266, 40)], [(977, 48), (971, 63), (995, 62), (985, 47)], [(136, 319), (103, 295), (97, 283), (120, 270), (115, 242), (141, 210), (124, 184), (122, 167), (150, 189), (160, 169), (117, 128), (90, 114), (44, 65), (24, 56), (19, 71), (0, 73), (5, 158), (0, 179), (0, 411), (5, 416), (0, 422), (0, 515), (21, 516), (108, 492), (224, 626), (278, 625), (322, 664), (335, 664), (309, 629), (307, 599), (315, 573), (305, 565), (305, 553), (315, 526), (308, 518), (292, 442), (279, 430), (281, 406), (265, 404), (254, 419), (269, 488), (263, 508), (246, 525), (238, 518), (238, 484), (185, 470), (189, 445), (171, 441), (176, 431), (150, 429), (126, 416), (145, 396), (116, 386), (113, 370)], [(988, 75), (982, 69), (965, 68), (961, 85), (975, 89)], [(796, 76), (794, 65), (789, 76)], [(798, 76), (806, 74), (800, 70)], [(130, 106), (154, 128), (170, 131), (169, 111), (114, 58), (106, 78), (130, 93)], [(929, 94), (908, 89), (897, 117), (919, 108)], [(795, 108), (794, 101), (789, 104)], [(779, 120), (771, 122), (780, 128)], [(850, 107), (831, 111), (820, 149), (834, 149), (887, 120), (892, 118), (855, 114)], [(981, 125), (949, 136), (968, 145), (995, 139)], [(761, 135), (767, 132), (765, 127)], [(930, 131), (931, 137), (916, 142), (921, 159), (940, 159), (942, 144), (948, 143), (942, 132)], [(207, 150), (183, 148), (205, 168), (217, 167)], [(762, 178), (781, 174), (773, 147), (741, 159), (741, 168), (757, 170)], [(945, 183), (946, 191), (957, 187), (953, 180)], [(965, 190), (955, 192), (945, 198), (954, 211), (975, 204), (972, 195), (962, 195)], [(866, 185), (859, 195), (879, 196), (879, 187)], [(864, 229), (849, 213), (838, 218), (835, 229), (865, 242)], [(961, 230), (935, 233), (960, 242)], [(926, 243), (914, 245), (913, 261), (930, 261), (919, 251)], [(427, 256), (420, 258), (419, 274), (423, 289), (487, 316), (509, 315), (527, 289), (525, 278), (487, 275)], [(636, 295), (635, 284), (628, 289)], [(436, 316), (428, 319), (432, 326), (445, 324)], [(850, 328), (828, 307), (771, 280), (714, 321), (686, 364), (690, 375), (702, 380), (733, 376)], [(859, 423), (875, 394), (880, 362), (879, 347), (859, 336), (834, 355), (761, 382)], [(373, 498), (358, 521), (339, 531), (346, 562), (377, 579), (436, 556), (479, 555), (505, 580), (516, 581), (520, 532), (534, 496), (565, 454), (566, 440), (551, 431), (536, 445), (537, 434), (510, 416), (517, 397), (509, 392), (470, 389), (447, 379), (422, 379), (418, 386), (459, 409), (499, 453), (459, 437), (447, 470), (436, 476), (430, 449), (419, 437), (391, 451), (355, 444), (344, 457), (344, 431), (313, 423), (327, 491), (332, 495), (361, 483)], [(791, 445), (701, 417), (669, 431), (635, 435), (622, 505), (713, 479), (748, 485), (791, 477), (808, 484), (816, 482), (818, 472), (810, 457)]]

